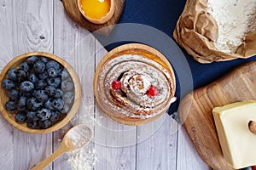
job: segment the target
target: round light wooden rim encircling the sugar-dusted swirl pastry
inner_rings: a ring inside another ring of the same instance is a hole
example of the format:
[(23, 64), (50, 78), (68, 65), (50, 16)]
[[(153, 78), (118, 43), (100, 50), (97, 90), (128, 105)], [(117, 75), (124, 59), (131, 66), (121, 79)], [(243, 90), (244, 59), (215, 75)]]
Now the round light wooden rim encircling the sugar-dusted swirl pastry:
[[(99, 76), (99, 72), (102, 69), (102, 66), (105, 65), (105, 63), (108, 62), (108, 59), (111, 59), (111, 57), (113, 57), (115, 54), (118, 54), (118, 53), (120, 53), (122, 51), (130, 50), (130, 49), (131, 50), (134, 50), (134, 49), (145, 50), (146, 52), (148, 52), (150, 54), (154, 54), (154, 56), (158, 57), (160, 60), (162, 60), (164, 62), (164, 63), (160, 63), (160, 61), (155, 60), (155, 62), (158, 62), (160, 65), (165, 64), (168, 67), (170, 76), (172, 78), (172, 85), (173, 85), (172, 92), (173, 92), (173, 96), (175, 95), (175, 92), (176, 92), (176, 78), (175, 78), (174, 71), (172, 69), (172, 65), (170, 64), (168, 59), (166, 59), (165, 55), (160, 53), (160, 51), (158, 51), (157, 49), (152, 48), (152, 47), (150, 47), (150, 46), (148, 46), (146, 44), (142, 44), (142, 43), (128, 43), (128, 44), (125, 44), (125, 45), (121, 45), (121, 46), (119, 46), (117, 48), (113, 48), (110, 52), (108, 52), (108, 54), (106, 54), (101, 59), (101, 61), (99, 62), (99, 64), (96, 67), (96, 72), (95, 72), (95, 75), (94, 75), (94, 80), (93, 80), (94, 94), (95, 94), (95, 97), (96, 97), (97, 104), (100, 105), (100, 107), (102, 108), (102, 111), (104, 111), (104, 113), (107, 114), (114, 121), (120, 122), (120, 123), (126, 124), (126, 125), (131, 125), (131, 126), (133, 126), (133, 125), (143, 125), (143, 124), (148, 123), (148, 122), (153, 122), (155, 119), (157, 119), (158, 117), (163, 115), (166, 111), (163, 111), (163, 113), (160, 113), (160, 114), (158, 114), (156, 116), (148, 118), (147, 121), (136, 122), (136, 120), (135, 120), (135, 122), (132, 122), (132, 119), (123, 120), (123, 119), (121, 119), (119, 117), (111, 116), (111, 115), (108, 114), (108, 111), (105, 110), (104, 107), (102, 107), (102, 104), (101, 104), (100, 99), (99, 99), (99, 94), (97, 92), (97, 79), (98, 79), (98, 76)], [(165, 68), (166, 68), (166, 66), (165, 66)]]

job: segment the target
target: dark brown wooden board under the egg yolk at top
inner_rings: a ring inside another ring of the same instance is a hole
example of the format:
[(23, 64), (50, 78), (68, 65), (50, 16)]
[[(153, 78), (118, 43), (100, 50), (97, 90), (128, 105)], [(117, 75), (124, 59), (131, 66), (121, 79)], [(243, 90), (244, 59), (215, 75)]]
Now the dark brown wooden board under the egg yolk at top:
[(115, 4), (114, 4), (114, 7), (115, 7), (114, 10), (115, 11), (114, 11), (112, 19), (109, 20), (105, 24), (96, 25), (96, 24), (93, 24), (90, 21), (86, 20), (84, 18), (84, 16), (80, 13), (79, 7), (78, 7), (78, 4), (77, 4), (77, 0), (62, 0), (62, 3), (64, 5), (64, 8), (65, 8), (68, 16), (73, 21), (78, 23), (80, 26), (83, 26), (87, 30), (97, 31), (97, 30), (100, 30), (101, 28), (104, 28), (104, 27), (108, 26), (105, 29), (97, 31), (97, 33), (100, 33), (104, 36), (107, 36), (110, 33), (110, 31), (113, 30), (113, 27), (118, 22), (119, 17), (122, 14), (124, 6), (125, 6), (125, 0), (116, 0)]

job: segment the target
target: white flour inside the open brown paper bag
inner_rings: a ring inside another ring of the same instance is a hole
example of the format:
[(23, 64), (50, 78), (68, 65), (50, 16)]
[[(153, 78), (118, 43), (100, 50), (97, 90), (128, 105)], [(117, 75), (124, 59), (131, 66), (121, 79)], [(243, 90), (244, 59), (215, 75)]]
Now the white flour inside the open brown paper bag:
[(256, 0), (207, 0), (208, 12), (218, 23), (215, 47), (236, 53), (244, 38), (256, 31)]

